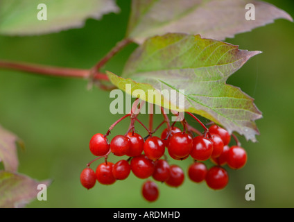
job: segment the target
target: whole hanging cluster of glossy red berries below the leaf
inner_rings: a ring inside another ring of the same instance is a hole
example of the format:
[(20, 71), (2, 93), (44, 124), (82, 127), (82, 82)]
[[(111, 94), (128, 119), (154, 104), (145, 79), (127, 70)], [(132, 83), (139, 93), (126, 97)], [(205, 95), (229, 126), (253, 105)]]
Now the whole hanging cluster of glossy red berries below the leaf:
[[(80, 182), (87, 189), (94, 187), (96, 180), (102, 185), (112, 185), (116, 180), (128, 178), (132, 171), (137, 178), (153, 177), (170, 187), (179, 187), (184, 182), (184, 171), (176, 164), (168, 164), (164, 155), (167, 148), (174, 160), (185, 160), (189, 156), (195, 160), (188, 169), (188, 176), (193, 182), (206, 181), (211, 189), (223, 189), (229, 178), (222, 166), (227, 164), (232, 169), (241, 169), (247, 161), (243, 148), (228, 146), (230, 139), (227, 130), (216, 125), (197, 137), (175, 126), (164, 129), (161, 138), (150, 135), (146, 140), (132, 131), (127, 135), (116, 135), (109, 142), (105, 135), (98, 133), (90, 140), (89, 149), (93, 155), (105, 157), (105, 162), (98, 165), (96, 172), (88, 164), (80, 174)], [(128, 160), (113, 164), (106, 159), (110, 153), (126, 155)], [(207, 169), (203, 162), (209, 159), (216, 166)], [(148, 201), (157, 200), (159, 196), (159, 189), (151, 180), (144, 182), (141, 192)]]

